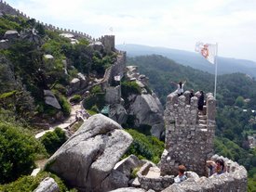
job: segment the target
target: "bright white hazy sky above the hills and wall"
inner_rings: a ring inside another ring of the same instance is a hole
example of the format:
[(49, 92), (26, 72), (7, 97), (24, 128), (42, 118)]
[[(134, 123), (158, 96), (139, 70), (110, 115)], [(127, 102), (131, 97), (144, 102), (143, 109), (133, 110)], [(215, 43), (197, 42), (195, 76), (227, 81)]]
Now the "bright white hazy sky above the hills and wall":
[(115, 44), (188, 51), (218, 43), (222, 57), (256, 61), (256, 0), (7, 0), (34, 19)]

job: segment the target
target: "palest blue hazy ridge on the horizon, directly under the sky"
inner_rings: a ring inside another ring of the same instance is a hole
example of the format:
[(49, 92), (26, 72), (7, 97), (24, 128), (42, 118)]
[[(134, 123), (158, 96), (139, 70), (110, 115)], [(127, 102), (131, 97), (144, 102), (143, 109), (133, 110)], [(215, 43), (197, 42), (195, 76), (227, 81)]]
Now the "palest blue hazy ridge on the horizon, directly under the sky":
[[(178, 49), (165, 47), (147, 46), (147, 45), (116, 45), (117, 49), (127, 51), (128, 57), (145, 55), (162, 55), (180, 63), (184, 66), (190, 66), (197, 70), (208, 71), (214, 74), (214, 65), (211, 65), (205, 58), (199, 54)], [(218, 57), (218, 74), (228, 74), (242, 72), (249, 76), (256, 77), (256, 62), (245, 59), (222, 58)]]

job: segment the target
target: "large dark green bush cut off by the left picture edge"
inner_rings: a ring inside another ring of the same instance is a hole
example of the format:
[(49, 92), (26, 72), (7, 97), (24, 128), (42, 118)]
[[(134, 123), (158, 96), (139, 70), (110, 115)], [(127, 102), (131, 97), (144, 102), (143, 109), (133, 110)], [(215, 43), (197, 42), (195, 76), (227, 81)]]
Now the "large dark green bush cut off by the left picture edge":
[(45, 148), (22, 127), (0, 122), (0, 183), (31, 173), (36, 154), (44, 152)]

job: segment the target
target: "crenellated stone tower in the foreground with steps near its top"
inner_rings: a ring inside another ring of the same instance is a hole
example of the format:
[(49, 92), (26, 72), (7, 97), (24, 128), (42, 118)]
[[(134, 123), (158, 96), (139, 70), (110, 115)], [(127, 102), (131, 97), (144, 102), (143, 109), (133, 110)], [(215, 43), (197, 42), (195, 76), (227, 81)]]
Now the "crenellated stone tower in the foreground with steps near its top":
[(203, 115), (198, 115), (197, 97), (189, 101), (189, 92), (183, 96), (170, 94), (165, 110), (166, 150), (161, 158), (161, 174), (177, 174), (178, 166), (206, 175), (206, 160), (213, 155), (216, 100), (206, 97)]

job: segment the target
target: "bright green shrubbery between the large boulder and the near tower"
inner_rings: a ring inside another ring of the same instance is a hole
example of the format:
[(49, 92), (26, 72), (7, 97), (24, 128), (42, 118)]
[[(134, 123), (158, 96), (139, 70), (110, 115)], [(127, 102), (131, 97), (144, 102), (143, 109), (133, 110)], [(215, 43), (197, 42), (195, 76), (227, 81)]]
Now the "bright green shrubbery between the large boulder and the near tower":
[(146, 136), (133, 129), (127, 130), (128, 134), (133, 137), (133, 142), (128, 148), (125, 157), (133, 154), (140, 159), (152, 160), (157, 163), (164, 150), (164, 143), (159, 141), (155, 136)]

